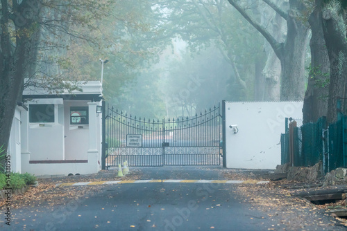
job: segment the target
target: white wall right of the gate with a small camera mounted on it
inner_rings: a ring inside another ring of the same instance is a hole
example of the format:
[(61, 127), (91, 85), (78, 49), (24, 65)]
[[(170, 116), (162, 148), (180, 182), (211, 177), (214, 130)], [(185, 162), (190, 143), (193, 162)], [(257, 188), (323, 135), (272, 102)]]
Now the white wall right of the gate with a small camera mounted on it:
[(226, 167), (275, 169), (285, 118), (302, 119), (302, 108), (303, 102), (226, 102)]

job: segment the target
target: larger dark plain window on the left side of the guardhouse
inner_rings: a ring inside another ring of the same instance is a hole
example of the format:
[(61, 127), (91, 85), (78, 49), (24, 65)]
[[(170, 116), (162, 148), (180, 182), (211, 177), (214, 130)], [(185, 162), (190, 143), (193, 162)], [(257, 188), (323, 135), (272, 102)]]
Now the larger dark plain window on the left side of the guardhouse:
[(29, 104), (29, 122), (54, 122), (54, 104)]

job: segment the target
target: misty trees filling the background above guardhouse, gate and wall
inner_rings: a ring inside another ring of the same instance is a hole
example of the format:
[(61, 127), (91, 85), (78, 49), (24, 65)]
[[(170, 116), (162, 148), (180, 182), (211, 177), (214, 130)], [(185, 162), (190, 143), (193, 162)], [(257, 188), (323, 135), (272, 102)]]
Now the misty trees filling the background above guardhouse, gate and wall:
[[(144, 117), (193, 116), (221, 100), (304, 100), (336, 120), (346, 96), (346, 1), (1, 0), (0, 145), (26, 87), (100, 80)], [(347, 100), (342, 110), (346, 112)]]

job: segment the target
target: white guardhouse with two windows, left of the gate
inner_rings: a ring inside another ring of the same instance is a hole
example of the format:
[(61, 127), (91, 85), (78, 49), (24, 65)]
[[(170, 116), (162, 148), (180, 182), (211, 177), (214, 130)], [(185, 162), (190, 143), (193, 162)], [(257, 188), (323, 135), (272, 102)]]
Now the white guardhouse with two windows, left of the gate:
[(81, 89), (59, 95), (24, 90), (26, 103), (17, 107), (8, 150), (13, 172), (36, 176), (99, 172), (101, 113), (96, 109), (101, 106), (101, 82), (89, 81)]

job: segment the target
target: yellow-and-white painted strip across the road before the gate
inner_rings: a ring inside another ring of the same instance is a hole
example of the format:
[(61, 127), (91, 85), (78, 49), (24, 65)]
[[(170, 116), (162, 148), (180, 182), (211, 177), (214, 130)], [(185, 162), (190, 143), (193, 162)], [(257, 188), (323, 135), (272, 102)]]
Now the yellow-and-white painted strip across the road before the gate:
[(269, 181), (219, 181), (219, 180), (134, 180), (134, 181), (93, 181), (93, 182), (74, 182), (59, 183), (59, 186), (85, 186), (85, 185), (113, 185), (113, 184), (130, 184), (130, 183), (219, 183), (219, 184), (265, 184)]

